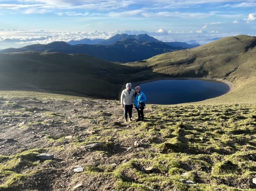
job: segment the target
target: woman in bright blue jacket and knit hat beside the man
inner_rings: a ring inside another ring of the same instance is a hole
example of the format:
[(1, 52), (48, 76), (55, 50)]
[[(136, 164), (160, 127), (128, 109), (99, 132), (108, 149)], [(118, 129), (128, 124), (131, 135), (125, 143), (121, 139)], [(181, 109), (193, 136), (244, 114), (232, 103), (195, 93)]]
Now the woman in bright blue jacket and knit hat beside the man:
[(134, 98), (134, 106), (137, 109), (138, 112), (138, 119), (137, 121), (143, 121), (144, 120), (144, 114), (143, 109), (145, 106), (146, 97), (145, 94), (140, 91), (140, 86), (137, 86), (135, 88), (135, 98)]

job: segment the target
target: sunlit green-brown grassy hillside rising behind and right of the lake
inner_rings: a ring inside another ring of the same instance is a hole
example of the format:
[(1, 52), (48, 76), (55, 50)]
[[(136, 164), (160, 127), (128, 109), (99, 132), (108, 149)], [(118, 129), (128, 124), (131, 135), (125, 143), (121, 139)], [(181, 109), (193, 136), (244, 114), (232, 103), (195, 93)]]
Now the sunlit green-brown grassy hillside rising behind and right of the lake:
[(193, 49), (160, 54), (142, 63), (152, 71), (171, 77), (205, 77), (233, 84), (229, 94), (215, 103), (249, 103), (256, 100), (256, 37), (226, 37)]

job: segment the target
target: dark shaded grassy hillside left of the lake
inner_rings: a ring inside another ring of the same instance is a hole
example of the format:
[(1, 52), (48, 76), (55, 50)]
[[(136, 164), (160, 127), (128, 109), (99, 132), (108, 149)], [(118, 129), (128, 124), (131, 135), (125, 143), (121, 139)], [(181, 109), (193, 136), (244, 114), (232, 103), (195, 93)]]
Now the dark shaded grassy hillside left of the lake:
[(121, 86), (142, 68), (123, 66), (83, 54), (2, 53), (0, 89), (32, 90), (117, 98)]

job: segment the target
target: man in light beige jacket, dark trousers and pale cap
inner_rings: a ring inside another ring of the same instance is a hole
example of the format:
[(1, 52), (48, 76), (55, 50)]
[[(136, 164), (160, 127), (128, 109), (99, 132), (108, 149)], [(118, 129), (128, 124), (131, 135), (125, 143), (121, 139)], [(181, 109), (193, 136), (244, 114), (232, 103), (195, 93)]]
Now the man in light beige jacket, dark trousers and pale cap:
[(125, 87), (126, 89), (124, 89), (121, 94), (121, 105), (122, 108), (124, 108), (125, 121), (127, 121), (128, 119), (128, 113), (130, 121), (132, 121), (132, 108), (134, 103), (135, 91), (131, 88), (131, 83), (127, 83)]

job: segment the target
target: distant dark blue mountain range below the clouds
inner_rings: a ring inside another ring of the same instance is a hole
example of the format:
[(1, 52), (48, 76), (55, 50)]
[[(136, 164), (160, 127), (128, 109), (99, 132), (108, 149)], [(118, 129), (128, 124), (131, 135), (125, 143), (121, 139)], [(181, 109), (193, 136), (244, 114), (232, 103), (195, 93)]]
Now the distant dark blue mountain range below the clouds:
[[(88, 43), (88, 44), (86, 44)], [(95, 43), (95, 44), (93, 44)], [(75, 44), (75, 45), (71, 45)], [(53, 42), (47, 45), (34, 44), (22, 48), (7, 48), (3, 53), (39, 51), (39, 52), (59, 52), (65, 54), (89, 54), (111, 62), (134, 62), (145, 60), (158, 54), (166, 52), (193, 48), (196, 45), (187, 43), (168, 42), (164, 43), (150, 37), (147, 34), (128, 35), (116, 34), (107, 40), (84, 39), (78, 42), (72, 41), (71, 44), (65, 42)]]

